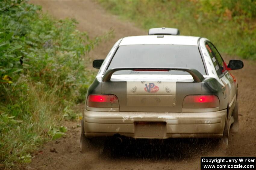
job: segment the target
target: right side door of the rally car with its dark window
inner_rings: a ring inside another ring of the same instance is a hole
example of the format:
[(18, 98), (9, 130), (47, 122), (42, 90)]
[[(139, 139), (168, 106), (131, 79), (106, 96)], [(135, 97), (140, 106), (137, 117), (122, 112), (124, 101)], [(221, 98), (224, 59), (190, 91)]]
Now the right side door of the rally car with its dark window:
[[(224, 84), (224, 98), (228, 97), (229, 112), (232, 113), (236, 103), (236, 85), (233, 80), (233, 77), (226, 70), (224, 60), (221, 57), (218, 50), (216, 49), (216, 47), (211, 42), (206, 42), (205, 46), (208, 50), (209, 55), (211, 56), (211, 60), (214, 64), (217, 75), (219, 76), (220, 81)], [(229, 118), (230, 117), (231, 114), (229, 114)]]

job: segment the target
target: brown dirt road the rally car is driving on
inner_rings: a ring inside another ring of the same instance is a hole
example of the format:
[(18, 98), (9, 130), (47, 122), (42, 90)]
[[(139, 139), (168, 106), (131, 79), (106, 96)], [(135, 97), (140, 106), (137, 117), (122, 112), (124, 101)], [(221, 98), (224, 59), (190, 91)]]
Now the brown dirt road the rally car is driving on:
[[(115, 38), (101, 43), (89, 57), (104, 59), (117, 39), (145, 35), (132, 23), (108, 14), (92, 1), (35, 1), (56, 18), (73, 17), (78, 29), (91, 37), (102, 35), (112, 27)], [(224, 56), (228, 62), (231, 57)], [(234, 58), (234, 57), (233, 57)], [(200, 169), (200, 156), (256, 156), (255, 62), (243, 60), (242, 70), (232, 71), (239, 82), (239, 132), (231, 133), (227, 150), (220, 150), (216, 140), (169, 140), (167, 144), (139, 141), (136, 145), (116, 147), (106, 144), (104, 150), (79, 152), (78, 122), (66, 122), (67, 137), (45, 144), (36, 151), (24, 169)], [(83, 105), (81, 105), (81, 112)]]

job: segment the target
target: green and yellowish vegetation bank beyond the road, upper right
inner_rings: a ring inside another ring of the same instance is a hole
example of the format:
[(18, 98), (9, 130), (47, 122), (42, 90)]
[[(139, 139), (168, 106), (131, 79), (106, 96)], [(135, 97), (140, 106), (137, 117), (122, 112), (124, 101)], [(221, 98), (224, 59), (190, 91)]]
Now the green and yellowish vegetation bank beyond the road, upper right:
[(181, 35), (207, 37), (220, 52), (256, 60), (255, 0), (100, 2), (144, 29), (179, 28)]

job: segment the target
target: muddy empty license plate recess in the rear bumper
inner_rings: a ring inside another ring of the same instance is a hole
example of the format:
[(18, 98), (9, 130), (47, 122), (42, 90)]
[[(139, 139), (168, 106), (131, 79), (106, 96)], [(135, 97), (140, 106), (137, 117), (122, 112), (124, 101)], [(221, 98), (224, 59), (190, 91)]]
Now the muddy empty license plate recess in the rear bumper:
[(135, 122), (136, 138), (164, 138), (166, 122)]

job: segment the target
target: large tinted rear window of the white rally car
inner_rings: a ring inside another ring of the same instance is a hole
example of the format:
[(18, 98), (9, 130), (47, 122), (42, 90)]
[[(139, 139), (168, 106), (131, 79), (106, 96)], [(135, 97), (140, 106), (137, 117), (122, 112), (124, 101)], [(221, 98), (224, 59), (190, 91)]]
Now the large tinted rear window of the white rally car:
[[(108, 69), (117, 67), (186, 67), (205, 75), (204, 64), (195, 45), (121, 45)], [(189, 74), (183, 71), (131, 71), (114, 74)]]

